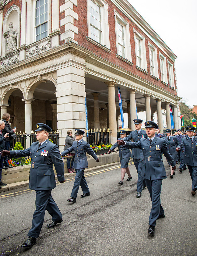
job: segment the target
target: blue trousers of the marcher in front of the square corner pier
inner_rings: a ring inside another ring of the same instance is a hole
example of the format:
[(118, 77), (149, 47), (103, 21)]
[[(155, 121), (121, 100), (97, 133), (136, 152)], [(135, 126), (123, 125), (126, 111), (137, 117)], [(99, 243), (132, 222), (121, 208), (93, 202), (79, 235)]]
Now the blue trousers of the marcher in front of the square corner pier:
[(90, 192), (90, 190), (88, 188), (88, 184), (86, 182), (86, 178), (85, 178), (84, 173), (83, 173), (84, 170), (85, 169), (75, 169), (75, 171), (76, 171), (75, 183), (74, 183), (74, 186), (72, 188), (71, 197), (74, 197), (74, 198), (77, 197), (77, 193), (78, 193), (78, 190), (79, 190), (79, 185), (81, 186), (83, 194)]

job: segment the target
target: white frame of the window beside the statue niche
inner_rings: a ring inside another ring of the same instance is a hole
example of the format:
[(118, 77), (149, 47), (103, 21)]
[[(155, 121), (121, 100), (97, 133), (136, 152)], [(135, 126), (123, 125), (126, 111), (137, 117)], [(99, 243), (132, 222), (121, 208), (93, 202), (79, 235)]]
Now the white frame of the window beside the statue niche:
[[(40, 40), (44, 40), (44, 37), (43, 39), (40, 39), (38, 41), (36, 41), (36, 1), (33, 0), (33, 42), (39, 42)], [(51, 1), (47, 0), (47, 37), (48, 35), (51, 33)]]

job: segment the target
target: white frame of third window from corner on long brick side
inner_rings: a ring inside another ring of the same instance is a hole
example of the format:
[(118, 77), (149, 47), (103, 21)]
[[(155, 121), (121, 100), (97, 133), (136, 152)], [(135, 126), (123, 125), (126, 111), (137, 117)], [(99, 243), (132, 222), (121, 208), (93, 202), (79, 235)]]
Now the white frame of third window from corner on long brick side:
[(142, 36), (142, 34), (140, 34), (135, 28), (133, 28), (133, 32), (134, 32), (134, 41), (135, 41), (136, 67), (139, 67), (137, 65), (137, 49), (136, 49), (136, 38), (139, 38), (141, 42), (141, 58), (142, 58), (142, 66), (139, 68), (147, 72), (145, 37)]

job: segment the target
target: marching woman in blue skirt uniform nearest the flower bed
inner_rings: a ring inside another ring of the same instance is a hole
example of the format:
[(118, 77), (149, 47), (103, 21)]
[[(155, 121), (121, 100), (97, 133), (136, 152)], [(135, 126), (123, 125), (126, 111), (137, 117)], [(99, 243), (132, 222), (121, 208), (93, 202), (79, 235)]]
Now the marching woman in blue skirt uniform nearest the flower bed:
[[(120, 137), (118, 140), (124, 140), (126, 137), (126, 131), (125, 130), (120, 130)], [(120, 158), (120, 164), (121, 164), (121, 181), (118, 182), (118, 184), (122, 185), (123, 180), (125, 177), (125, 173), (128, 174), (128, 179), (126, 181), (132, 180), (132, 176), (130, 173), (130, 170), (128, 168), (128, 162), (131, 157), (131, 151), (127, 147), (119, 146), (118, 143), (116, 142), (108, 151), (108, 154), (111, 153), (115, 148), (119, 148), (119, 158)]]

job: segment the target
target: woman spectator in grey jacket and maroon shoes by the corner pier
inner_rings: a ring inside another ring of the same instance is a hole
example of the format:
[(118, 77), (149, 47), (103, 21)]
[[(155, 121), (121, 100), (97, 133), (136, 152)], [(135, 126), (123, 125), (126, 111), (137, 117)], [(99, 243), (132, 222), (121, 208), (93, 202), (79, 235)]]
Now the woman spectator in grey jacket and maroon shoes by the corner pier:
[[(73, 144), (73, 142), (75, 141), (75, 139), (72, 137), (72, 130), (68, 130), (67, 131), (67, 136), (66, 136), (66, 139), (65, 139), (65, 147), (64, 147), (64, 151), (68, 148), (70, 148)], [(73, 173), (75, 172), (75, 170), (73, 169), (73, 163), (74, 163), (74, 159), (75, 159), (75, 151), (72, 151), (70, 153), (67, 154), (67, 156), (72, 156), (72, 158), (68, 157), (67, 158), (67, 168), (68, 168), (68, 172), (69, 173)]]

